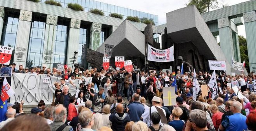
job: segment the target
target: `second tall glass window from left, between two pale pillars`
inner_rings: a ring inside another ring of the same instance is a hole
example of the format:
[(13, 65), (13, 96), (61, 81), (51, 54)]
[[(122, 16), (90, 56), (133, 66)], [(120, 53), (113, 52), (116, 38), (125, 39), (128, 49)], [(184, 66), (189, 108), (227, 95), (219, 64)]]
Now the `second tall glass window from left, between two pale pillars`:
[(43, 42), (45, 39), (46, 17), (33, 16), (29, 37), (27, 67), (41, 67), (43, 58)]

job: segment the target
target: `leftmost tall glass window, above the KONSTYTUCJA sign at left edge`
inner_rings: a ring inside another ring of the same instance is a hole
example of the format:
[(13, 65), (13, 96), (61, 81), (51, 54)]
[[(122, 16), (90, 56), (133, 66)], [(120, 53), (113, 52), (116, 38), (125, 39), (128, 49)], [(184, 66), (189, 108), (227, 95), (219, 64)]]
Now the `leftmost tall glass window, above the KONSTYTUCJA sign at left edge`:
[(14, 48), (16, 43), (17, 28), (19, 24), (19, 13), (5, 12), (5, 19), (3, 22), (2, 40), (1, 43), (4, 46), (13, 48), (12, 57), (10, 63), (13, 62)]

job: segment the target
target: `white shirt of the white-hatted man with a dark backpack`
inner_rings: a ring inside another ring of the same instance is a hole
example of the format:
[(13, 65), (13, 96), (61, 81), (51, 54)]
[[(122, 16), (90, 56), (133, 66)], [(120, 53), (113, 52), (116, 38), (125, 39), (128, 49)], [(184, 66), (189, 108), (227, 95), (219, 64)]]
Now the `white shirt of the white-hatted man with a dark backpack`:
[[(143, 119), (143, 122), (144, 122), (144, 123), (147, 123), (147, 126), (150, 126), (150, 123), (151, 123), (151, 125), (152, 125), (152, 121), (150, 121), (149, 108), (150, 108), (150, 107), (148, 107), (148, 108), (145, 110), (145, 112), (142, 114), (142, 116), (141, 116), (142, 119)], [(159, 107), (159, 108), (162, 109), (163, 112), (164, 112), (164, 115), (166, 115), (164, 109), (161, 108), (161, 107)], [(158, 111), (156, 110), (156, 107), (155, 107), (155, 106), (151, 106), (151, 113), (153, 113), (153, 112), (157, 112), (157, 113), (158, 113)], [(161, 122), (161, 120), (160, 120), (159, 124), (160, 124), (161, 126), (164, 126), (163, 123)]]

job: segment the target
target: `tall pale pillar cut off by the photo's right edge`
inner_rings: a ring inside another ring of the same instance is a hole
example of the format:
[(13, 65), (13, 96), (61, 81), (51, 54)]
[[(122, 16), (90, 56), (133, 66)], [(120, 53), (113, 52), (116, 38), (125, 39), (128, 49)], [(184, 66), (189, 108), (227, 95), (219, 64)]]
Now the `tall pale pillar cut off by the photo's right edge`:
[(256, 71), (256, 12), (244, 13), (244, 27), (249, 57), (250, 71)]

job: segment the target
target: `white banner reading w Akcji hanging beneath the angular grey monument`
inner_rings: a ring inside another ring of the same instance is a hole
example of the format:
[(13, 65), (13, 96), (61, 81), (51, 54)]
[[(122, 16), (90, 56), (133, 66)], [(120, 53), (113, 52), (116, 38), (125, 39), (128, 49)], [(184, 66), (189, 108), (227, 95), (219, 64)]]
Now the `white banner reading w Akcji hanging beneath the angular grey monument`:
[(148, 45), (147, 60), (156, 61), (156, 62), (174, 61), (173, 46), (165, 50), (159, 50)]

